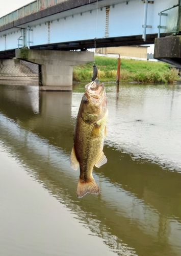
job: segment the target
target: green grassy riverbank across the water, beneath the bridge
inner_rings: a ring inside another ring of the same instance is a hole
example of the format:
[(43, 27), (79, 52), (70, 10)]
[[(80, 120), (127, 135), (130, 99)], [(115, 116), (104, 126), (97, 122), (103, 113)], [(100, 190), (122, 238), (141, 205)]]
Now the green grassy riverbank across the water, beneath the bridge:
[[(95, 56), (97, 77), (102, 81), (116, 81), (117, 58)], [(73, 68), (73, 81), (87, 82), (92, 77), (92, 62)], [(165, 62), (121, 59), (120, 81), (142, 83), (173, 83), (178, 72)]]

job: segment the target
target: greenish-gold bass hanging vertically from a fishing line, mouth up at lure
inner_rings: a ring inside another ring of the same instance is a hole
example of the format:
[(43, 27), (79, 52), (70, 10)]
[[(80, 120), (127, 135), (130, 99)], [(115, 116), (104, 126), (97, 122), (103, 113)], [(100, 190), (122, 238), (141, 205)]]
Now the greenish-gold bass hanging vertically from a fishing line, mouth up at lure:
[(76, 117), (73, 148), (70, 164), (74, 170), (80, 166), (80, 177), (76, 195), (84, 197), (87, 193), (98, 194), (92, 170), (94, 165), (100, 167), (107, 163), (103, 153), (106, 125), (108, 118), (107, 97), (104, 83), (99, 79), (86, 84), (79, 112)]

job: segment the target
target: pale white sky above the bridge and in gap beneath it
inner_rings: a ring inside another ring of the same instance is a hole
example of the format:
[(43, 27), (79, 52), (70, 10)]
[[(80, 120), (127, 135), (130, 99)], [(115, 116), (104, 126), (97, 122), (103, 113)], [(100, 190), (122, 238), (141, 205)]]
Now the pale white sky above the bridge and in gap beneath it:
[[(33, 2), (33, 0), (0, 0), (0, 17), (31, 2)], [(150, 45), (150, 47), (147, 49), (147, 52), (154, 53), (154, 45)]]

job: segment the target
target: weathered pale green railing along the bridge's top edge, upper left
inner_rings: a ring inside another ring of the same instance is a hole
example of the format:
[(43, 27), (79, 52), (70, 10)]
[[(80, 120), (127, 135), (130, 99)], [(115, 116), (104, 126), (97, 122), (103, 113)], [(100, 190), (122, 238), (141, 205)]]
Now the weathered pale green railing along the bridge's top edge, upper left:
[(68, 0), (36, 0), (0, 18), (0, 27)]

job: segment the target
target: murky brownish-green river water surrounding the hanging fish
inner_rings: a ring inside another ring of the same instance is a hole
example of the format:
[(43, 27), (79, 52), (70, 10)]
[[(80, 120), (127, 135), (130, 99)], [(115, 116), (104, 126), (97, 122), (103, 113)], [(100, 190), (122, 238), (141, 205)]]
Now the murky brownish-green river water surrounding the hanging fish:
[(0, 86), (1, 255), (181, 255), (181, 86), (106, 87), (100, 194), (77, 199), (69, 159), (84, 86)]

